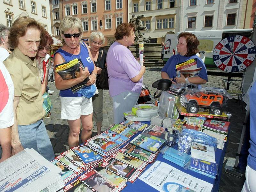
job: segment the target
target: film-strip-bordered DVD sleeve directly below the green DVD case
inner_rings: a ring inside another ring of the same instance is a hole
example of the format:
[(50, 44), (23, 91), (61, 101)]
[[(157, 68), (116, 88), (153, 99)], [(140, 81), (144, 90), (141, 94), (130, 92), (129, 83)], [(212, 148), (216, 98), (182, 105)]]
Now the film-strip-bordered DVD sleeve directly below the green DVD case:
[(153, 154), (132, 144), (126, 144), (120, 152), (148, 163), (153, 163), (159, 152)]

